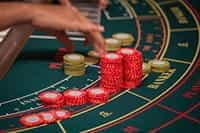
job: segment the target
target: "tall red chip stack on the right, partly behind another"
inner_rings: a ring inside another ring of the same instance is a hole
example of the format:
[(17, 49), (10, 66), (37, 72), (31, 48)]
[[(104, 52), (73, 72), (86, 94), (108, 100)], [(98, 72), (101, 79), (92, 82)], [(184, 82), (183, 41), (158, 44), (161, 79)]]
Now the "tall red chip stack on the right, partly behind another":
[(122, 48), (118, 54), (123, 56), (124, 83), (123, 88), (131, 89), (140, 85), (142, 81), (142, 53), (136, 49)]

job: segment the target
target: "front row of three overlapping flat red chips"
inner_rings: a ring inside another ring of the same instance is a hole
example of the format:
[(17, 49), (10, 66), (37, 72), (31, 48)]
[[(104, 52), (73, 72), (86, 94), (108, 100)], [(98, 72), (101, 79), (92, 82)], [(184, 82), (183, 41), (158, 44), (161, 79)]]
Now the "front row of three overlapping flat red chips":
[(55, 123), (56, 121), (68, 119), (71, 113), (67, 110), (56, 109), (46, 112), (29, 114), (20, 118), (20, 123), (25, 127), (34, 127), (42, 124)]

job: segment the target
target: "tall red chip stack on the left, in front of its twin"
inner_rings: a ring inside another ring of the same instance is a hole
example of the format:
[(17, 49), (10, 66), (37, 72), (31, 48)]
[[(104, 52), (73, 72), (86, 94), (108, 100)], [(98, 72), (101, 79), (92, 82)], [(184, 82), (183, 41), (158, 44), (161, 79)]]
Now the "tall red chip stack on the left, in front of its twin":
[(100, 87), (105, 88), (109, 93), (120, 91), (123, 82), (122, 56), (115, 53), (107, 53), (102, 56), (100, 66)]

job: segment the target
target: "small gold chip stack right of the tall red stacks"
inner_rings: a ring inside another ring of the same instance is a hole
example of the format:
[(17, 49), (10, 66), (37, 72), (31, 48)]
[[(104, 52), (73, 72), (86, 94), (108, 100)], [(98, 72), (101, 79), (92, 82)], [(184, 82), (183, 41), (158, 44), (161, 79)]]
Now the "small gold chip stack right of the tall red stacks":
[(148, 64), (151, 65), (151, 70), (153, 72), (162, 73), (162, 72), (167, 72), (170, 69), (170, 63), (164, 60), (154, 59), (150, 60)]

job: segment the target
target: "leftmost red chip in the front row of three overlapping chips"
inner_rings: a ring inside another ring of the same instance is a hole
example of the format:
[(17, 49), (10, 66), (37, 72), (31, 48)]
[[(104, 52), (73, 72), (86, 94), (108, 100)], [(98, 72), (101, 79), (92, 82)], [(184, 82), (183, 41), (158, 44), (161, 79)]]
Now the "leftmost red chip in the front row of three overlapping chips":
[(33, 127), (44, 124), (43, 119), (38, 114), (23, 116), (19, 121), (25, 127)]

